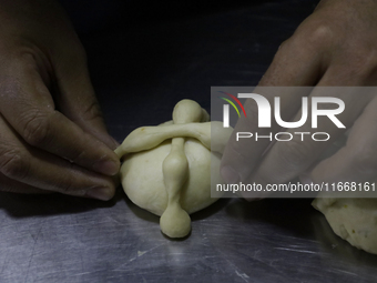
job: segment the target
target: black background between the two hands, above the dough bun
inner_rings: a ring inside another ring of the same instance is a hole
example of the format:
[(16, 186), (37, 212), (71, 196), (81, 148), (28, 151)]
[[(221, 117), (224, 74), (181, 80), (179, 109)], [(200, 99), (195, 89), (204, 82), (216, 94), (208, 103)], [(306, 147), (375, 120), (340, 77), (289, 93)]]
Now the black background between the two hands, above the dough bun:
[(86, 49), (109, 130), (171, 119), (194, 99), (210, 110), (211, 85), (256, 85), (279, 44), (317, 0), (61, 1)]

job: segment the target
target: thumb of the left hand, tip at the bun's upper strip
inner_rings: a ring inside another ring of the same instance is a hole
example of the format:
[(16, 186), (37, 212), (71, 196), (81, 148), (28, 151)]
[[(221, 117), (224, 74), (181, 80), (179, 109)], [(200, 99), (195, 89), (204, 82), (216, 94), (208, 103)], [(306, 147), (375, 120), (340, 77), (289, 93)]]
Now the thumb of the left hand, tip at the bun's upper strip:
[(63, 60), (63, 63), (57, 68), (57, 78), (59, 90), (55, 99), (60, 111), (110, 149), (114, 150), (119, 146), (119, 143), (106, 131), (102, 111), (90, 81), (84, 54), (79, 58), (73, 68), (71, 61)]

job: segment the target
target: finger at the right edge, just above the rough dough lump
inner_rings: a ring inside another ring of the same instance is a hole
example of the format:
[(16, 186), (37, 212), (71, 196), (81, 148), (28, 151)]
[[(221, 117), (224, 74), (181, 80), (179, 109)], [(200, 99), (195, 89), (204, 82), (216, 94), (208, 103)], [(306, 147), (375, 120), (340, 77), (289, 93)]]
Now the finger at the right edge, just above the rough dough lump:
[(314, 182), (365, 182), (377, 174), (377, 98), (353, 125), (347, 143), (330, 158), (317, 164), (310, 179)]

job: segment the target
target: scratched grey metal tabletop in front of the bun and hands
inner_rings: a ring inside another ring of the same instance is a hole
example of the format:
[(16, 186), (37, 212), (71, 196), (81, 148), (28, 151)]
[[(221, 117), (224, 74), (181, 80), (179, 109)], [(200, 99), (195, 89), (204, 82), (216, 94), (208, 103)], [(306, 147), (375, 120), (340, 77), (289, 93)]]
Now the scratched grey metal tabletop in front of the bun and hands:
[(121, 192), (108, 205), (1, 194), (1, 282), (375, 282), (377, 276), (377, 256), (334, 235), (309, 200), (221, 200), (193, 214), (196, 233), (183, 241), (163, 237), (157, 216)]

